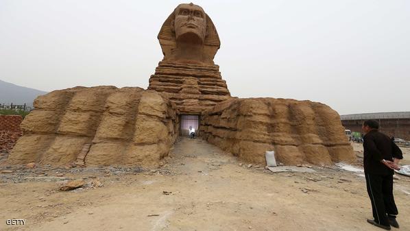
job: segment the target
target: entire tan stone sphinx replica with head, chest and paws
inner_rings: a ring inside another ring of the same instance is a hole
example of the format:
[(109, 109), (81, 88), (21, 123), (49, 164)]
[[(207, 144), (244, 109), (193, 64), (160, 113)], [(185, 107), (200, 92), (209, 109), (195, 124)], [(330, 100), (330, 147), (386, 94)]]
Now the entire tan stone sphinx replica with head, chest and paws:
[(213, 58), (215, 25), (193, 3), (180, 4), (158, 34), (164, 58), (147, 90), (97, 86), (55, 90), (34, 101), (8, 162), (158, 166), (181, 133), (184, 115), (198, 135), (248, 162), (274, 150), (285, 165), (353, 162), (339, 114), (293, 99), (231, 97)]

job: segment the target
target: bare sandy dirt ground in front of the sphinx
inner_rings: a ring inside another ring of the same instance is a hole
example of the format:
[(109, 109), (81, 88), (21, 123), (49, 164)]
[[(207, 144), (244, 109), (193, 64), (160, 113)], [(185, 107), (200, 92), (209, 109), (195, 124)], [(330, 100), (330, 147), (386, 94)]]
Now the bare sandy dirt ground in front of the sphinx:
[[(360, 145), (352, 145), (360, 162)], [(0, 230), (380, 230), (366, 222), (363, 173), (272, 173), (249, 164), (180, 138), (160, 169), (0, 165)], [(58, 190), (57, 181), (81, 178), (83, 188)], [(394, 187), (400, 230), (410, 230), (410, 178), (398, 175)]]

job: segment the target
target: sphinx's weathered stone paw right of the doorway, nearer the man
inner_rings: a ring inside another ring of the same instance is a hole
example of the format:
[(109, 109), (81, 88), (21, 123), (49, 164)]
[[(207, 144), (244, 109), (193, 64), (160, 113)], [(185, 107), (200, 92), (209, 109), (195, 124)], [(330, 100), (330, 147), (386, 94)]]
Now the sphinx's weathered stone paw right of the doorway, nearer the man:
[(230, 99), (202, 114), (200, 132), (210, 143), (260, 164), (269, 150), (285, 165), (355, 160), (339, 114), (311, 101)]

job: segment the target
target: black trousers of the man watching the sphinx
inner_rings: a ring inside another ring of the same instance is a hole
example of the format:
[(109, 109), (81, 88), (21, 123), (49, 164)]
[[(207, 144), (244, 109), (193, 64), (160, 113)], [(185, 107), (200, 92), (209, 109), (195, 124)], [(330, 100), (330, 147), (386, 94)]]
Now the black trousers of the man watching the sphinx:
[[(365, 174), (367, 193), (372, 201), (374, 221), (389, 226), (389, 217), (396, 217), (398, 210), (393, 197), (393, 175)], [(386, 214), (387, 213), (387, 214)]]

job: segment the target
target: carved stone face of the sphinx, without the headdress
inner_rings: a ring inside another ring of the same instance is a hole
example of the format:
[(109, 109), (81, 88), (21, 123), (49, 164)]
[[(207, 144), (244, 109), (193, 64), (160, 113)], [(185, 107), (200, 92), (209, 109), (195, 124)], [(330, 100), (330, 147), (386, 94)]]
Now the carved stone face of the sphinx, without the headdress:
[(180, 4), (174, 11), (174, 28), (177, 41), (204, 43), (206, 15), (198, 5)]

